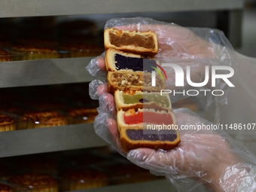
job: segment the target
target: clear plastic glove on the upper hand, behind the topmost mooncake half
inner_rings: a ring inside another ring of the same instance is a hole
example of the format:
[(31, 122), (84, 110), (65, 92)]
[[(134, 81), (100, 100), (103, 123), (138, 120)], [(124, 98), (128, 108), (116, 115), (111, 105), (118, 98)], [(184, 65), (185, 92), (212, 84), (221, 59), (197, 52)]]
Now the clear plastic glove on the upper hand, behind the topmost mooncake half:
[[(158, 53), (155, 56), (161, 63), (174, 62), (178, 63), (186, 73), (186, 66), (190, 66), (190, 78), (193, 82), (203, 82), (205, 79), (206, 66), (231, 66), (236, 70), (236, 53), (233, 50), (230, 42), (224, 36), (224, 33), (216, 29), (202, 28), (184, 28), (173, 23), (163, 23), (150, 18), (117, 18), (108, 20), (105, 24), (106, 28), (117, 28), (124, 30), (138, 30), (145, 32), (151, 30), (157, 34)], [(87, 70), (93, 76), (104, 76), (102, 72), (104, 68), (104, 53), (93, 59), (87, 66)], [(97, 67), (96, 67), (97, 66)], [(171, 67), (164, 68), (168, 78), (166, 80), (167, 90), (177, 90), (175, 87), (175, 72)], [(184, 87), (177, 92), (190, 90), (191, 87), (184, 81)], [(195, 87), (192, 88), (195, 90)], [(197, 90), (211, 90), (211, 80), (206, 87), (200, 87)], [(228, 97), (232, 94), (230, 87), (225, 82), (217, 82), (216, 90), (224, 90), (224, 96), (215, 98), (211, 94), (207, 96), (201, 93), (200, 102), (208, 115), (208, 118), (213, 122), (219, 122), (219, 114), (224, 111), (227, 106)], [(187, 94), (171, 95), (172, 102), (185, 99)], [(217, 100), (218, 99), (218, 100)]]

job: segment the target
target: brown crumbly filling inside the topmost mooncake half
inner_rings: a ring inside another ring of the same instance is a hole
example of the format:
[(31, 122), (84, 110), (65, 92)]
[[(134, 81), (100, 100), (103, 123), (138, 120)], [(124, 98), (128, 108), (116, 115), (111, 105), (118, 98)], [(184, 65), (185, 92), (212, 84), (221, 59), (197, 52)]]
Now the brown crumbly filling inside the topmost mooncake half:
[(122, 47), (126, 45), (134, 45), (136, 47), (145, 47), (147, 49), (154, 50), (155, 44), (154, 39), (151, 35), (129, 35), (123, 33), (122, 35), (116, 35), (113, 32), (109, 32), (110, 42), (114, 46)]

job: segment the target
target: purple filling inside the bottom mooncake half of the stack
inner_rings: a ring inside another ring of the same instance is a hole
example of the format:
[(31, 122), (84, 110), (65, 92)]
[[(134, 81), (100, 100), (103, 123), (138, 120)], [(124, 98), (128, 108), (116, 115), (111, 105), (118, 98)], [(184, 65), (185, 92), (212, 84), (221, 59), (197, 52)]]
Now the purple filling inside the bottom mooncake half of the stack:
[(169, 141), (173, 142), (177, 139), (175, 130), (169, 130), (168, 134), (143, 134), (143, 130), (126, 130), (126, 134), (131, 140), (147, 140), (147, 141)]

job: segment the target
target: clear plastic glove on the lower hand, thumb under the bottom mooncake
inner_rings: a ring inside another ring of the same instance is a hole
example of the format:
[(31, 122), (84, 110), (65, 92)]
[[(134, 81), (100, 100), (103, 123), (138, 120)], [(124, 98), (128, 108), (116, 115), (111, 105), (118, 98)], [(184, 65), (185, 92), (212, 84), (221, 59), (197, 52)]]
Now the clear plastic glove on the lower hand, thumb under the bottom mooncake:
[[(94, 124), (96, 133), (131, 162), (155, 175), (165, 175), (178, 191), (237, 191), (255, 165), (256, 157), (247, 148), (223, 130), (215, 130), (217, 125), (185, 108), (174, 110), (181, 129), (178, 147), (170, 151), (139, 148), (124, 152), (119, 142), (114, 97), (102, 92), (104, 86), (99, 86), (101, 95), (99, 116)], [(203, 126), (208, 130), (203, 130)], [(188, 127), (193, 130), (188, 130)], [(254, 179), (249, 178), (245, 191), (256, 190)]]

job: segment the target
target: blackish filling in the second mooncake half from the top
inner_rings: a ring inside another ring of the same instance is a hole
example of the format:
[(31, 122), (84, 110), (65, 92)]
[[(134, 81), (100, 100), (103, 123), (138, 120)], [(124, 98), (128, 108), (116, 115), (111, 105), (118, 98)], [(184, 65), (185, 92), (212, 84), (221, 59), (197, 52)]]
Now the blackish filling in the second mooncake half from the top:
[(114, 60), (116, 62), (115, 66), (118, 70), (120, 69), (132, 69), (133, 71), (141, 72), (152, 72), (154, 71), (151, 66), (156, 66), (154, 59), (143, 59), (136, 57), (128, 57), (120, 54), (114, 55)]

